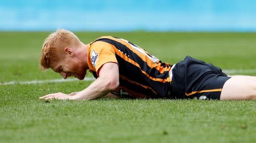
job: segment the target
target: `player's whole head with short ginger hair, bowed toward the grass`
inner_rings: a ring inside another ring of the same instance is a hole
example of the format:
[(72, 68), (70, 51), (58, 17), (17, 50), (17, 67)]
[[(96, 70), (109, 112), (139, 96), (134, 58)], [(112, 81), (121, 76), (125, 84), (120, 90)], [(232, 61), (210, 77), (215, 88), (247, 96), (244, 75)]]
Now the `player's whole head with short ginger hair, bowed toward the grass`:
[(63, 78), (73, 75), (84, 79), (86, 70), (75, 54), (81, 46), (81, 41), (71, 31), (57, 30), (51, 33), (43, 43), (40, 68), (51, 68)]

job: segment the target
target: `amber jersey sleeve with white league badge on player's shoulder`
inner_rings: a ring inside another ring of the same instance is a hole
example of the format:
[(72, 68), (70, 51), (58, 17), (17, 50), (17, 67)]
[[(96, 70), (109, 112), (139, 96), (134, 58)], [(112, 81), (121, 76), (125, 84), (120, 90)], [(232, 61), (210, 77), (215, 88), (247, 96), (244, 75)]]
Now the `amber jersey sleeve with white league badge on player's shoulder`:
[(100, 72), (101, 66), (107, 62), (115, 62), (118, 64), (114, 48), (109, 43), (96, 41), (90, 46), (89, 52), (89, 60), (97, 74)]

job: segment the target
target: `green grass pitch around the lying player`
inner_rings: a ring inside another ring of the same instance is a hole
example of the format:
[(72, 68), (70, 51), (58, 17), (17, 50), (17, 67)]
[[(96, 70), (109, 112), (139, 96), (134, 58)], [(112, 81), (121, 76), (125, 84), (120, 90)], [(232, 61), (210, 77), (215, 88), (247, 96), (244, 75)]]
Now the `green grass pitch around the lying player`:
[[(60, 79), (39, 70), (49, 32), (0, 32), (0, 142), (256, 142), (256, 101), (127, 100), (44, 102), (52, 92), (80, 91), (90, 82), (2, 85)], [(84, 43), (122, 37), (163, 62), (187, 55), (222, 69), (256, 69), (256, 33), (76, 32)], [(255, 71), (255, 70), (252, 70)], [(256, 75), (255, 72), (235, 73)], [(86, 75), (92, 77), (90, 73)]]

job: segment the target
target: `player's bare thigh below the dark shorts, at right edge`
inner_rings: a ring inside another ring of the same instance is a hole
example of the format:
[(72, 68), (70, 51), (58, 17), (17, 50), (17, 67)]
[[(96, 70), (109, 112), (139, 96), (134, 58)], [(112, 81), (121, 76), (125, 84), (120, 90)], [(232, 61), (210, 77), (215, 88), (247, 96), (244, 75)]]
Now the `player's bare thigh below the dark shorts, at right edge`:
[(256, 77), (235, 75), (225, 82), (221, 91), (221, 100), (256, 99)]

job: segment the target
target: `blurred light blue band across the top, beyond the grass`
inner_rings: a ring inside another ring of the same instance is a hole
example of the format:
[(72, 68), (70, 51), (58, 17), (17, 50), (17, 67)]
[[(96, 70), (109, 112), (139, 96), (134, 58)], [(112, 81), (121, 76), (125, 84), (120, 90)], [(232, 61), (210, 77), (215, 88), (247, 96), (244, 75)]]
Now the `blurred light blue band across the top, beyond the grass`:
[(255, 0), (0, 1), (0, 31), (256, 31)]

